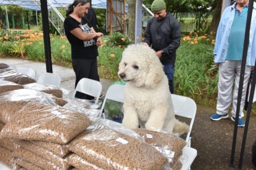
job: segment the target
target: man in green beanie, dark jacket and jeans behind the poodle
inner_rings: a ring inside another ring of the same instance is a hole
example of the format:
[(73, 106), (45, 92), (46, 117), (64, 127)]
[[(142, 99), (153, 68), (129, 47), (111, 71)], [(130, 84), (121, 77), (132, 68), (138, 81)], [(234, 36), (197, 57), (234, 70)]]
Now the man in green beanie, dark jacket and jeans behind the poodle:
[(148, 21), (142, 43), (152, 45), (152, 49), (156, 51), (169, 80), (170, 92), (174, 94), (174, 65), (176, 50), (180, 45), (180, 24), (166, 11), (166, 3), (163, 0), (155, 0), (151, 10), (155, 17)]

